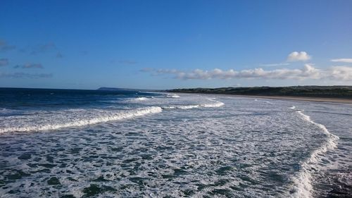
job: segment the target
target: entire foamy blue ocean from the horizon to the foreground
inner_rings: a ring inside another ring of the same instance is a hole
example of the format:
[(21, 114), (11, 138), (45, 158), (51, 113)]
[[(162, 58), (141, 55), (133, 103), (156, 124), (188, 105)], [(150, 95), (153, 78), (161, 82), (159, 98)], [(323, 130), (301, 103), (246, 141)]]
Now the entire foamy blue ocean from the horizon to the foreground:
[(0, 197), (352, 197), (352, 106), (0, 89)]

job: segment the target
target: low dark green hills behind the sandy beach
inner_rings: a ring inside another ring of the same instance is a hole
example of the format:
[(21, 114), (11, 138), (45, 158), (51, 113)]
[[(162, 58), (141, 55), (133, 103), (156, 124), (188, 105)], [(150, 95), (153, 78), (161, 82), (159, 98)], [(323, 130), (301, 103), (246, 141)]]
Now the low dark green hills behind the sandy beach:
[(168, 92), (352, 99), (352, 86), (220, 87), (170, 89)]

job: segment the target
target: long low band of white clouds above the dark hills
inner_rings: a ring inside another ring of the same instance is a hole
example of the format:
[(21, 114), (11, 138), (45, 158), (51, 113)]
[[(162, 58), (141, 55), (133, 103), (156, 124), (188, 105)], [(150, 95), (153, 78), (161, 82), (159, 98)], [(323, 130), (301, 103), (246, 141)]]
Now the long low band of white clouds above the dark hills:
[(249, 70), (169, 70), (153, 69), (141, 70), (142, 72), (151, 73), (152, 75), (172, 75), (173, 78), (182, 80), (209, 80), (209, 79), (277, 79), (277, 80), (352, 80), (352, 67), (333, 66), (327, 69), (318, 69), (311, 64), (305, 64), (301, 69), (275, 69), (264, 70), (255, 68)]

